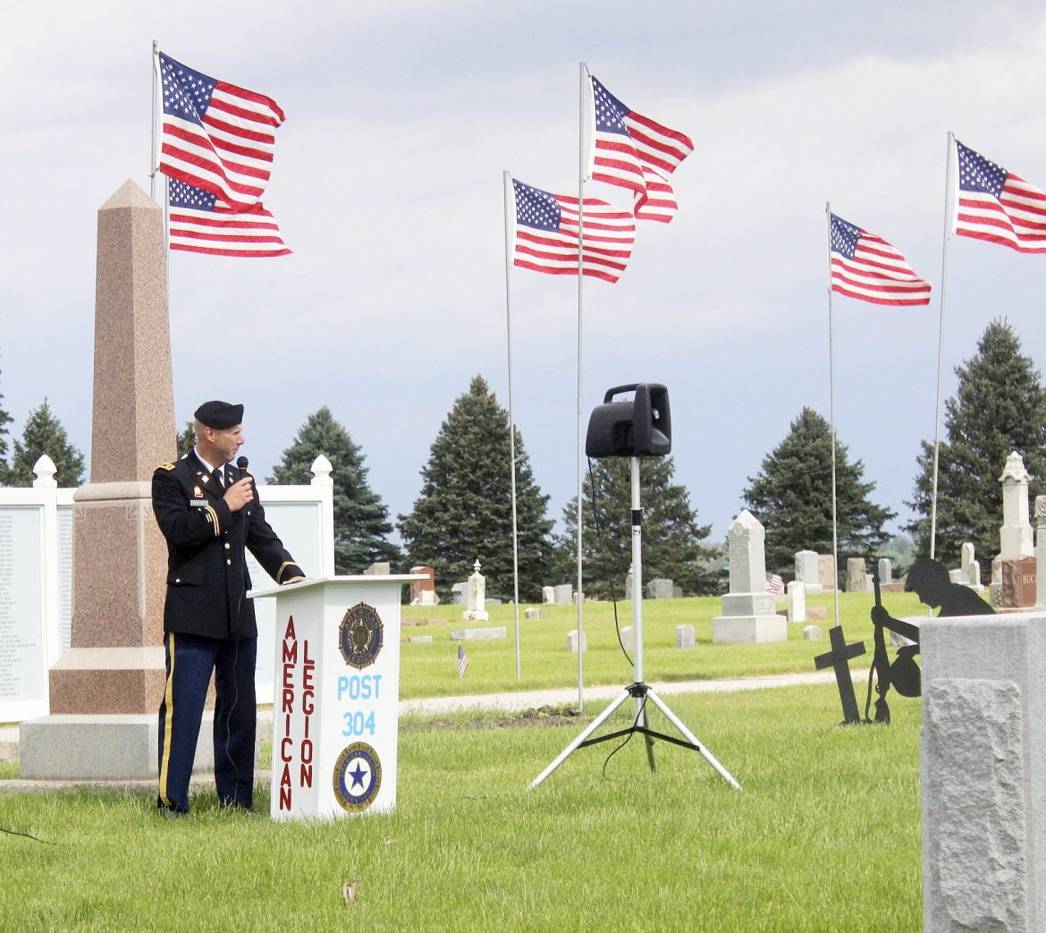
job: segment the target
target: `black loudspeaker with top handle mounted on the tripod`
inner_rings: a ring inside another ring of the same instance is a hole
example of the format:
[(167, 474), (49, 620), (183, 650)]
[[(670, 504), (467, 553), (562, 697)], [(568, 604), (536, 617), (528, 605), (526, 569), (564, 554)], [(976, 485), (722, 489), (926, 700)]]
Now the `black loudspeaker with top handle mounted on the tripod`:
[[(614, 396), (634, 392), (631, 400)], [(668, 390), (656, 382), (608, 388), (604, 403), (593, 408), (585, 437), (588, 457), (664, 457), (672, 452)]]

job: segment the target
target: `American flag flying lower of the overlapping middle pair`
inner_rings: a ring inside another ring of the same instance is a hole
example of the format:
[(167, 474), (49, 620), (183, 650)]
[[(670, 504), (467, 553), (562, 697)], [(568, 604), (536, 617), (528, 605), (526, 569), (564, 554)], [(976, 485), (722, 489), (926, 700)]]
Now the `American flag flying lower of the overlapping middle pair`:
[[(577, 274), (577, 199), (552, 195), (513, 179), (516, 198), (514, 265), (550, 275)], [(621, 277), (636, 240), (632, 214), (596, 198), (585, 199), (585, 274)]]

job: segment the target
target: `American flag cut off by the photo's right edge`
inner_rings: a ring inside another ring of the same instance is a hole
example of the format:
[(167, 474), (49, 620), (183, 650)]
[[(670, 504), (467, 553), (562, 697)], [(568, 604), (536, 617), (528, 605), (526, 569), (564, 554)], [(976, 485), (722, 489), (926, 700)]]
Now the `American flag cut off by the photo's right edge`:
[(1020, 252), (1046, 252), (1046, 192), (955, 140), (959, 163), (955, 232)]

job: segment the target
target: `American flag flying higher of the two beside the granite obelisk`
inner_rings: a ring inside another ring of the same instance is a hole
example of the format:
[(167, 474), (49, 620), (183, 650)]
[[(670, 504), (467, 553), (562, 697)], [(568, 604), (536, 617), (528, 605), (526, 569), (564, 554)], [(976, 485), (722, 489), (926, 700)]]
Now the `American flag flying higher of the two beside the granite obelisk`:
[(232, 206), (256, 204), (272, 172), (274, 133), (283, 111), (264, 94), (158, 55), (163, 88), (160, 171)]

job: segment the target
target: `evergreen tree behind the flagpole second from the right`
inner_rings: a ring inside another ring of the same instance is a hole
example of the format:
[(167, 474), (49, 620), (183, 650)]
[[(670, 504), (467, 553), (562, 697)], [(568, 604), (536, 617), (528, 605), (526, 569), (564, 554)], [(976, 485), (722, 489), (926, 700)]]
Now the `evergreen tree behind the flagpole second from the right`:
[[(868, 557), (890, 537), (883, 526), (895, 517), (868, 497), (864, 464), (847, 460), (836, 439), (836, 516), (839, 562)], [(832, 425), (804, 407), (783, 441), (763, 461), (742, 498), (767, 531), (767, 570), (791, 573), (797, 551), (832, 553)]]

